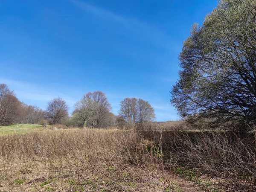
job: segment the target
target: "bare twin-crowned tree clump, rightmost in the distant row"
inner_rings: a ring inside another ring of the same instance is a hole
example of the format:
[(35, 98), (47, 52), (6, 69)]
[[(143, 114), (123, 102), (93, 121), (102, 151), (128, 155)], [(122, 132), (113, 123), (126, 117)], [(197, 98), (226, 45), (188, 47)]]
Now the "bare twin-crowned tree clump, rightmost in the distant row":
[[(125, 98), (120, 102), (119, 116), (129, 125), (153, 121), (155, 118), (154, 108), (143, 99)], [(120, 118), (119, 118), (120, 119)]]

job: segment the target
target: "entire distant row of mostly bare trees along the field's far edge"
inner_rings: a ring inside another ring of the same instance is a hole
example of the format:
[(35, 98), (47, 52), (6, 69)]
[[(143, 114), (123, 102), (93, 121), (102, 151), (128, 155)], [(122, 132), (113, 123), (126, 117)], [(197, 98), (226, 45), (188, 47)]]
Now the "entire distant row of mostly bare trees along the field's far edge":
[(67, 127), (105, 128), (117, 125), (132, 128), (155, 118), (154, 108), (143, 99), (125, 98), (120, 102), (119, 114), (112, 113), (111, 103), (101, 91), (89, 92), (81, 97), (69, 114), (69, 106), (57, 97), (47, 102), (46, 110), (27, 105), (17, 99), (13, 90), (0, 84), (0, 125), (27, 123), (47, 126), (64, 124)]

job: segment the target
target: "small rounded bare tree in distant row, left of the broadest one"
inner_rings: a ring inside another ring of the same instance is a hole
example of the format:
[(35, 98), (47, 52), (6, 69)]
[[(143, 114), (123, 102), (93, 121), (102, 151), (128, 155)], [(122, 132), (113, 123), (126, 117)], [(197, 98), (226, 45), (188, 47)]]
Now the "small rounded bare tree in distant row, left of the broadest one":
[(68, 106), (66, 101), (60, 97), (54, 98), (47, 103), (46, 110), (47, 119), (50, 124), (58, 124), (64, 122), (68, 117)]

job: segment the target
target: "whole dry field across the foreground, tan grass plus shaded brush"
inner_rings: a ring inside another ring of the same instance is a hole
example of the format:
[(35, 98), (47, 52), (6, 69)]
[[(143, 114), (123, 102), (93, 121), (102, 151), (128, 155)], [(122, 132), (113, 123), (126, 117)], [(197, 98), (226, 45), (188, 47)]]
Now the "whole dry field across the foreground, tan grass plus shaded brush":
[(256, 190), (253, 134), (31, 126), (0, 135), (0, 191)]

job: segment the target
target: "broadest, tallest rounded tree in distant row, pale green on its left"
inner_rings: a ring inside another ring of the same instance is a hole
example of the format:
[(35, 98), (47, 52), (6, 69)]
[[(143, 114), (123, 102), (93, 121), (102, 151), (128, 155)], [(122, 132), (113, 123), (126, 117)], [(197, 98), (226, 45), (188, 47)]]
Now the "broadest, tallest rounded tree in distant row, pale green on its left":
[(79, 102), (75, 104), (73, 118), (76, 118), (82, 126), (93, 128), (109, 126), (111, 118), (111, 104), (105, 93), (101, 91), (86, 93)]

